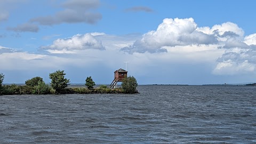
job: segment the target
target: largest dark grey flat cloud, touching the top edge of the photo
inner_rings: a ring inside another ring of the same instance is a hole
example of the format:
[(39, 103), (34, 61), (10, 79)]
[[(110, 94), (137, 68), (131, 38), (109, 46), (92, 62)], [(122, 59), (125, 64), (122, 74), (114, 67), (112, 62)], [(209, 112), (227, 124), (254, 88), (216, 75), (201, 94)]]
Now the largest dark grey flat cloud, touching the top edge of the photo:
[(38, 22), (41, 25), (57, 25), (60, 23), (77, 22), (93, 24), (98, 22), (102, 18), (102, 15), (90, 10), (97, 9), (99, 5), (99, 1), (68, 0), (62, 3), (64, 10), (59, 11), (53, 15), (33, 18), (30, 21)]

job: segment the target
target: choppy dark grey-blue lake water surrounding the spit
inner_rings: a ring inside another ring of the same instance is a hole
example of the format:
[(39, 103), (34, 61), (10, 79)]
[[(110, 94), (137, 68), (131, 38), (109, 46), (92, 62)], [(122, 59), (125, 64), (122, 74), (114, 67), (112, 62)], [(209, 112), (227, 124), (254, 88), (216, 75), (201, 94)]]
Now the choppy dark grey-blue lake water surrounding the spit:
[(256, 143), (256, 87), (0, 96), (0, 143)]

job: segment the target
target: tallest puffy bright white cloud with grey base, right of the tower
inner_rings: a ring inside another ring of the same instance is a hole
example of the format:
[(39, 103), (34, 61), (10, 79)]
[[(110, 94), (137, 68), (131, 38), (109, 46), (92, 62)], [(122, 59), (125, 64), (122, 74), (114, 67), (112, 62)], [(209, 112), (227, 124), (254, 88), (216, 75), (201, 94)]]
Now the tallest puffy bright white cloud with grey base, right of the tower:
[(217, 38), (211, 34), (197, 31), (197, 24), (193, 18), (164, 19), (156, 30), (149, 31), (131, 46), (124, 47), (121, 51), (128, 53), (155, 53), (167, 52), (163, 46), (214, 44)]

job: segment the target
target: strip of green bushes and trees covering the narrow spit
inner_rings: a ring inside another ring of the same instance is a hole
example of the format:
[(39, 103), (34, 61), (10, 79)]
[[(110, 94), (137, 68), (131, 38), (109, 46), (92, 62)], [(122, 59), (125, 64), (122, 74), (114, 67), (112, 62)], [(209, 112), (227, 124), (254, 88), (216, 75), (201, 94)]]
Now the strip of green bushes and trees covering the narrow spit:
[(110, 89), (106, 85), (94, 88), (95, 82), (92, 77), (85, 79), (86, 87), (68, 87), (70, 80), (65, 78), (64, 70), (57, 70), (49, 74), (51, 83), (46, 84), (42, 77), (28, 79), (26, 85), (3, 85), (4, 74), (0, 73), (0, 95), (12, 94), (89, 94), (89, 93), (138, 93), (136, 87), (137, 80), (133, 76), (125, 77), (122, 86)]

